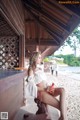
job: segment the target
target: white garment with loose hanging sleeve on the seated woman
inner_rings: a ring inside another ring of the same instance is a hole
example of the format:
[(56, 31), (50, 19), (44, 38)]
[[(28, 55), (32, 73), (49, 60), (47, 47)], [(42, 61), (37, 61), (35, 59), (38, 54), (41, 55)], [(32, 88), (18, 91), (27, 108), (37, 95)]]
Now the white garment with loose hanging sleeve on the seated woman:
[(46, 74), (41, 69), (36, 68), (34, 75), (29, 76), (28, 78), (28, 83), (26, 86), (26, 95), (37, 98), (37, 93), (38, 93), (37, 84), (41, 82), (43, 82), (44, 87), (48, 86)]

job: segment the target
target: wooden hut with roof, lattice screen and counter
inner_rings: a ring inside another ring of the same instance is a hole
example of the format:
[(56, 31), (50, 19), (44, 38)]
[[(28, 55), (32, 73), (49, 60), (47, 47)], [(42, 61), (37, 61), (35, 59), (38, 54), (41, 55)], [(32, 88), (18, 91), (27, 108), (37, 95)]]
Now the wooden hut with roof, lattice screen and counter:
[(54, 53), (80, 23), (80, 4), (58, 0), (0, 0), (0, 112), (12, 120), (23, 105), (28, 53)]

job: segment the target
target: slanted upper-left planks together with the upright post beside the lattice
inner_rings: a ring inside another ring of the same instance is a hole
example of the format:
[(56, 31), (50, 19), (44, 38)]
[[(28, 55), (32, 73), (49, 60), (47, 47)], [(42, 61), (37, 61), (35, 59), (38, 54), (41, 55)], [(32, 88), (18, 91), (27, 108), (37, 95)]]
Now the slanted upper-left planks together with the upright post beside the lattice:
[(0, 0), (0, 12), (9, 25), (15, 30), (20, 40), (19, 59), (20, 67), (24, 67), (25, 58), (25, 24), (24, 9), (21, 0)]

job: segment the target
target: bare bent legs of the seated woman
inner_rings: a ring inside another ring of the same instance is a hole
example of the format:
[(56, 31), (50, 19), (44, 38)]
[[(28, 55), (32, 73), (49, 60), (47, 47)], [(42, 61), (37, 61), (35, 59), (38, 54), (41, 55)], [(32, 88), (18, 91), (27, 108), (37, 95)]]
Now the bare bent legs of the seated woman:
[[(58, 95), (60, 96), (60, 101), (54, 98)], [(61, 111), (61, 117), (59, 120), (67, 120), (64, 88), (55, 88), (52, 95), (47, 92), (42, 92), (42, 102), (51, 105)]]

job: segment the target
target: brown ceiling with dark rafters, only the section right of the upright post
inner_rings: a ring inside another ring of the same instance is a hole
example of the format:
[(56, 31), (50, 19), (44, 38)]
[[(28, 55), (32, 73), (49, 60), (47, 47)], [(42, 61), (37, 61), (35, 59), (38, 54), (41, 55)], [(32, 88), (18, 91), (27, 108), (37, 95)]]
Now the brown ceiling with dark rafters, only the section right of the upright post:
[(52, 54), (80, 23), (79, 4), (60, 4), (58, 0), (23, 0), (23, 4), (26, 50), (39, 45), (41, 51), (49, 47)]

